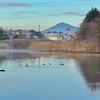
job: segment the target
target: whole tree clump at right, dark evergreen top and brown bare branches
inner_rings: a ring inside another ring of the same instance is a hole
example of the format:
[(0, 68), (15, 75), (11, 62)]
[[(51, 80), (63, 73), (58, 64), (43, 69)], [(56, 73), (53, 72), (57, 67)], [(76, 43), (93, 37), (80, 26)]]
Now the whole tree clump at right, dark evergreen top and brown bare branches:
[(79, 30), (77, 40), (100, 43), (100, 11), (93, 8), (86, 14)]

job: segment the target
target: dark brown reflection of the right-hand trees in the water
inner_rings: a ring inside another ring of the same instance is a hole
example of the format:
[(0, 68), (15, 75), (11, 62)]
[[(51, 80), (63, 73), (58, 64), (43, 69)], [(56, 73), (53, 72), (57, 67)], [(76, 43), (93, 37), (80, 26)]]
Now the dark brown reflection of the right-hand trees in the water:
[(100, 89), (100, 57), (87, 56), (78, 59), (80, 70), (92, 91)]

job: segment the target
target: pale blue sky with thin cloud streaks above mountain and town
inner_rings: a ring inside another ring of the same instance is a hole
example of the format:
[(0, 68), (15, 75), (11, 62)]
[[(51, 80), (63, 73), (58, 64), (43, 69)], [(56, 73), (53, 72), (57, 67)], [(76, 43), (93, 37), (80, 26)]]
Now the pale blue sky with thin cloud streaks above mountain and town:
[(79, 27), (100, 0), (0, 0), (0, 27), (45, 30), (60, 22)]

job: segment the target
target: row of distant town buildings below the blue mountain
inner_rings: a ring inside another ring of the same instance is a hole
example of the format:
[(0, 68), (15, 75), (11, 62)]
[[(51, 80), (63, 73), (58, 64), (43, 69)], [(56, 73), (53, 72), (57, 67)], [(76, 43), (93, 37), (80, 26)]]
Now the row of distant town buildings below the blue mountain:
[(36, 32), (34, 30), (3, 30), (3, 34), (6, 35), (9, 39), (15, 38), (28, 38), (28, 39), (38, 39), (44, 38), (48, 40), (72, 40), (74, 39), (74, 35), (69, 35), (69, 33), (64, 34), (63, 32)]

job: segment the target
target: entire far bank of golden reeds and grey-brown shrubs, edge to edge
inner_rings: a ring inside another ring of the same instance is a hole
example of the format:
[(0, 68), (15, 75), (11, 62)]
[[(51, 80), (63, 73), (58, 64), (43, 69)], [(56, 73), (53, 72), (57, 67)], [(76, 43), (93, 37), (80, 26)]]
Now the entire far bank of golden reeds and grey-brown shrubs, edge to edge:
[(75, 41), (45, 41), (29, 39), (2, 41), (0, 42), (0, 48), (54, 50), (65, 52), (100, 52), (99, 43)]

